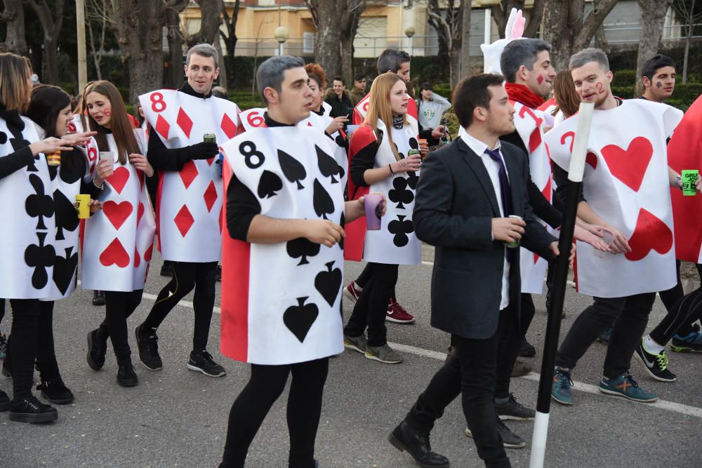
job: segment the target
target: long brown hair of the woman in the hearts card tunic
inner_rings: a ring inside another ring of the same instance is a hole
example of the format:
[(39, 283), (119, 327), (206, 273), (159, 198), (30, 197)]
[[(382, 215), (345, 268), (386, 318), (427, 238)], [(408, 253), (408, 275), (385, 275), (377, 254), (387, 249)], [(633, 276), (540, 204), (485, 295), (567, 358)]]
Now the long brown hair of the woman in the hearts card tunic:
[[(112, 131), (114, 142), (117, 145), (119, 163), (124, 164), (128, 161), (128, 154), (139, 153), (141, 150), (136, 142), (134, 128), (127, 116), (127, 109), (124, 107), (122, 96), (110, 81), (95, 81), (95, 83), (86, 86), (85, 91), (83, 91), (83, 97), (81, 98), (81, 114), (88, 108), (87, 98), (90, 93), (101, 94), (110, 100), (110, 105), (112, 106), (110, 131)], [(98, 132), (98, 134), (95, 135), (95, 141), (98, 142), (98, 149), (100, 149), (100, 151), (110, 151), (110, 147), (107, 145), (107, 131), (105, 127), (100, 126), (89, 112), (86, 118), (88, 119), (88, 125), (91, 131)]]

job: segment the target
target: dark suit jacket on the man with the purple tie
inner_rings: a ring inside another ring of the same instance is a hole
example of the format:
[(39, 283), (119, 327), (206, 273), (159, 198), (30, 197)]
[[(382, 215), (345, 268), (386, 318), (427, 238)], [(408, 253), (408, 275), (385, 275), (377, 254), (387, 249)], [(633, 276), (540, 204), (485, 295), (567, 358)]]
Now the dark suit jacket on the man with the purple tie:
[[(555, 237), (529, 206), (529, 159), (502, 143), (515, 215), (527, 223), (522, 246), (550, 258)], [(454, 335), (487, 339), (497, 330), (505, 246), (492, 240), (492, 218), (501, 214), (482, 159), (460, 138), (432, 152), (422, 166), (414, 206), (419, 239), (436, 247), (432, 273), (432, 326)], [(510, 265), (510, 305), (519, 311), (519, 250)]]

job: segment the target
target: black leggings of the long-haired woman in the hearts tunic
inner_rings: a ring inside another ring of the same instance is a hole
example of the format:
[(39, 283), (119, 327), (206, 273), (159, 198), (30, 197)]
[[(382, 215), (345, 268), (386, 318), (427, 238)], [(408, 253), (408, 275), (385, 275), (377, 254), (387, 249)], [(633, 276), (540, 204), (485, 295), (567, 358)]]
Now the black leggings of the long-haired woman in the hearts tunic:
[(101, 340), (112, 340), (112, 349), (117, 362), (131, 362), (131, 349), (127, 338), (127, 319), (141, 302), (143, 289), (135, 291), (105, 291), (105, 320), (100, 323), (98, 336)]

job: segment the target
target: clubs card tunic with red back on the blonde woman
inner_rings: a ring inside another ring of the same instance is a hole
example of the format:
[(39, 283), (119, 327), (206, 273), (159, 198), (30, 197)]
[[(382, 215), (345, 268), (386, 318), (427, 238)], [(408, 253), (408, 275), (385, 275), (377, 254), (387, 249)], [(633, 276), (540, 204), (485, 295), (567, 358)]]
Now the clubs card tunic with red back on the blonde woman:
[[(392, 132), (392, 141), (397, 145), (401, 158), (409, 149), (418, 148), (413, 128), (402, 129), (385, 127), (378, 120), (378, 137), (370, 125), (364, 124), (355, 131), (349, 146), (349, 161), (364, 152), (375, 151), (374, 168), (388, 168), (397, 161), (390, 149), (390, 139), (384, 135)], [(349, 163), (351, 166), (351, 163)], [(370, 187), (355, 187), (349, 179), (349, 199), (358, 199), (368, 193), (381, 193), (388, 202), (385, 216), (380, 221), (379, 230), (366, 230), (366, 218), (350, 222), (346, 227), (347, 260), (386, 263), (390, 265), (416, 265), (421, 261), (421, 243), (414, 232), (412, 222), (414, 194), (419, 180), (419, 171), (402, 172), (380, 180)]]

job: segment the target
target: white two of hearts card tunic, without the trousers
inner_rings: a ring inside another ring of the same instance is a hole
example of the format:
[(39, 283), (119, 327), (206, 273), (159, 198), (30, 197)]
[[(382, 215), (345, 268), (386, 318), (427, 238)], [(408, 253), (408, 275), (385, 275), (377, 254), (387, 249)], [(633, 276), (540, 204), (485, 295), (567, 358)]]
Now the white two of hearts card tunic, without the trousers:
[[(600, 218), (627, 237), (632, 251), (598, 253), (578, 241), (578, 292), (625, 297), (675, 286), (665, 139), (680, 119), (679, 110), (644, 100), (625, 100), (614, 109), (595, 110), (583, 195)], [(578, 116), (571, 116), (545, 135), (552, 160), (566, 171), (577, 123)]]

